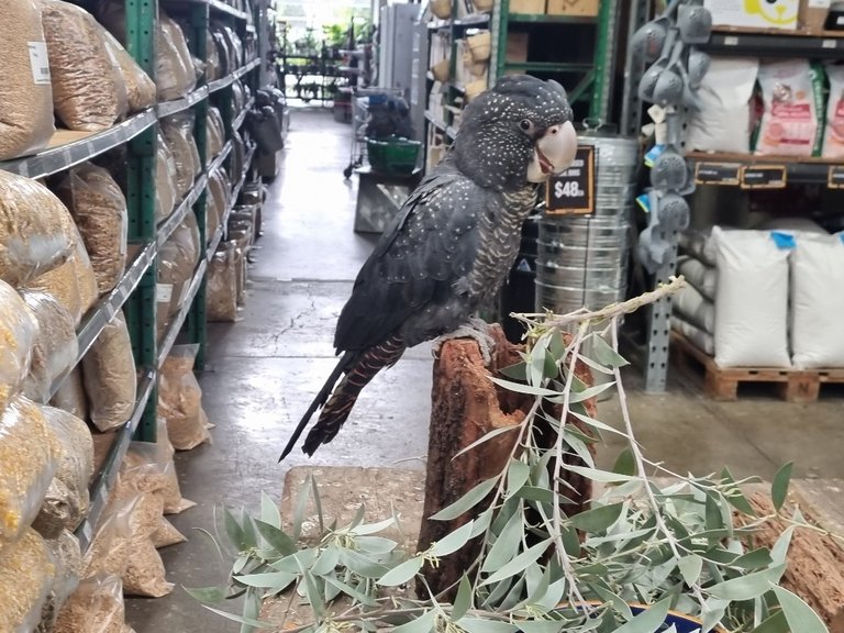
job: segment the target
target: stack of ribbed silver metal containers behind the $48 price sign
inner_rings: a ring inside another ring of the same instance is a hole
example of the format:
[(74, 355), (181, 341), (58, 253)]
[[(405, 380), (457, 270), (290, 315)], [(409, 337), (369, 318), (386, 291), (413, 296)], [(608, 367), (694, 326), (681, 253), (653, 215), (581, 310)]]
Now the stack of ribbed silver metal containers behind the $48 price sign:
[(626, 295), (638, 144), (634, 138), (593, 131), (580, 134), (578, 141), (595, 146), (595, 213), (545, 215), (540, 221), (537, 311), (597, 310)]

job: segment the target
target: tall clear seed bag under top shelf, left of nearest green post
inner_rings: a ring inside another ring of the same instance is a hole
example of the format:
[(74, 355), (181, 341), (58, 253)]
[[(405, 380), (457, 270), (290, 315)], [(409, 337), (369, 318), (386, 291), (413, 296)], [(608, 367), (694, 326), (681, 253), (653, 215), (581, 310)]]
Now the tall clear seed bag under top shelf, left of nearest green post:
[(126, 268), (126, 199), (111, 174), (90, 163), (71, 168), (57, 193), (76, 220), (100, 295), (110, 292)]

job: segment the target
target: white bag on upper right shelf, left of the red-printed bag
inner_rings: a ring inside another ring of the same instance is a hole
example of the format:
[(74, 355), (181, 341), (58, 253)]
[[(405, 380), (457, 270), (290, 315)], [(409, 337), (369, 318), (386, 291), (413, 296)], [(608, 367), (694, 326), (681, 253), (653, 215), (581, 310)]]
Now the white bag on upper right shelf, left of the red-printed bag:
[(751, 97), (758, 59), (713, 57), (689, 116), (686, 146), (699, 152), (751, 152)]

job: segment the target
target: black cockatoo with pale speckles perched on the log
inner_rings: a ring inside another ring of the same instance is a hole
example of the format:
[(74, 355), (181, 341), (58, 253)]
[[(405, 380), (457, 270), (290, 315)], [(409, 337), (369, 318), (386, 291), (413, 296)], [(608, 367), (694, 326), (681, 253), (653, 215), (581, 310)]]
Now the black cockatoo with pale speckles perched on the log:
[(459, 330), (495, 299), (536, 206), (537, 184), (565, 170), (576, 149), (571, 108), (555, 81), (503, 77), (466, 106), (452, 149), (358, 273), (334, 335), (343, 356), (281, 459), (316, 409), (302, 447), (308, 455), (334, 438), (380, 369), (408, 347)]

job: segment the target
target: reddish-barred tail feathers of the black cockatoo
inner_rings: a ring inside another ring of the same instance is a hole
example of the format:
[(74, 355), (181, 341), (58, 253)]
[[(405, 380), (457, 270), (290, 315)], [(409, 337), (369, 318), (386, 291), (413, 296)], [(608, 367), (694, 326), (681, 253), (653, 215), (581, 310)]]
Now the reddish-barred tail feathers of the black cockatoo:
[(316, 425), (311, 429), (304, 440), (302, 451), (313, 455), (321, 444), (331, 442), (352, 412), (352, 407), (363, 388), (375, 378), (378, 371), (395, 365), (404, 349), (404, 343), (399, 336), (390, 336), (380, 345), (362, 353), (323, 407)]

